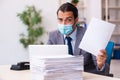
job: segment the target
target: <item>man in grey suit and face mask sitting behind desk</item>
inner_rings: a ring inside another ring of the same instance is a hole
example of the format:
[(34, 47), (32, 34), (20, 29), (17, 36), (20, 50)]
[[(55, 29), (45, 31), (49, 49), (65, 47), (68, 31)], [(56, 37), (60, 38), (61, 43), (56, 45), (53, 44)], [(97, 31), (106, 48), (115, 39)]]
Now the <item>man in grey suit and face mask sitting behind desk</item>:
[[(62, 4), (57, 11), (58, 30), (49, 33), (47, 44), (66, 44), (69, 54), (73, 56), (84, 56), (84, 71), (107, 75), (109, 66), (106, 64), (106, 52), (99, 51), (97, 57), (79, 48), (79, 44), (85, 33), (83, 27), (76, 26), (78, 22), (78, 10), (71, 3)], [(71, 42), (71, 44), (69, 44)]]

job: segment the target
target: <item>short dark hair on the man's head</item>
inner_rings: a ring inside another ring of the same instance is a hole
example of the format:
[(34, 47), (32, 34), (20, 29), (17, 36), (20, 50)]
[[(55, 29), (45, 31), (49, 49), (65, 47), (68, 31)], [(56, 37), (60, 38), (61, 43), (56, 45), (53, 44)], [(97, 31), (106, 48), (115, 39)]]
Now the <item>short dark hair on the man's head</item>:
[(59, 7), (59, 9), (57, 10), (57, 15), (58, 15), (59, 11), (62, 11), (62, 12), (71, 11), (71, 12), (73, 12), (73, 15), (74, 15), (75, 19), (78, 17), (78, 9), (74, 5), (72, 5), (71, 3), (69, 3), (69, 2), (62, 4)]

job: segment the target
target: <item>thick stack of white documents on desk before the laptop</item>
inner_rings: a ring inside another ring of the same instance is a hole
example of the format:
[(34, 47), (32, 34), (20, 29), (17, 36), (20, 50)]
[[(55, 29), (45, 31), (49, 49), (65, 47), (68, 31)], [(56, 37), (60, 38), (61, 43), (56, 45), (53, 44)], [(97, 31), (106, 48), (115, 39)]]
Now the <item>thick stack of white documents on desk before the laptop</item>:
[(83, 57), (39, 58), (30, 62), (33, 80), (83, 80)]

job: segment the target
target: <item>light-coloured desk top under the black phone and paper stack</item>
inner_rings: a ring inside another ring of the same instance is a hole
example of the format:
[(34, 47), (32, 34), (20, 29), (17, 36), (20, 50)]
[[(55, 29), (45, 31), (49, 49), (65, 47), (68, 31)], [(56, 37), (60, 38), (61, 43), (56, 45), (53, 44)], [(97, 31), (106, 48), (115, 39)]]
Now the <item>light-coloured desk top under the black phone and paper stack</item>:
[[(14, 71), (10, 66), (0, 66), (0, 80), (32, 80), (30, 70)], [(84, 80), (120, 80), (118, 78), (106, 77), (92, 73), (83, 72)]]

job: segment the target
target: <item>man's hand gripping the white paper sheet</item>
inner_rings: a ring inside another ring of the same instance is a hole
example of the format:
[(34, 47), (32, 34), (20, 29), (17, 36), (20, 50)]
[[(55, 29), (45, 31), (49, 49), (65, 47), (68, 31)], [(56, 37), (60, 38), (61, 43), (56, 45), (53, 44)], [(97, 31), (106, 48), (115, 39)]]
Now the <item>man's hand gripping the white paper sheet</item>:
[(96, 57), (98, 69), (101, 69), (107, 58), (106, 51), (101, 49)]

